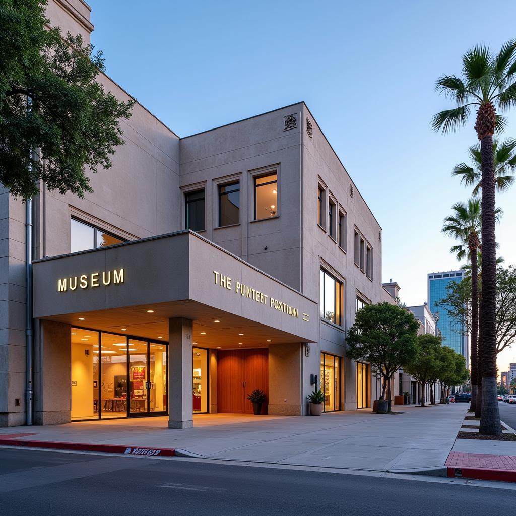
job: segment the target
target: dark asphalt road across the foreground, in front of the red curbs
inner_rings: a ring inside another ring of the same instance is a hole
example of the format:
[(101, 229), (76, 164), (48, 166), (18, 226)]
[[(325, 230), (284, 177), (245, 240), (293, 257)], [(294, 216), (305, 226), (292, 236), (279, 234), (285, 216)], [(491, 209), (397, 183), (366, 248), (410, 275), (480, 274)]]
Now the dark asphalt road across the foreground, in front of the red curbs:
[(2, 516), (506, 514), (514, 491), (209, 462), (0, 448)]

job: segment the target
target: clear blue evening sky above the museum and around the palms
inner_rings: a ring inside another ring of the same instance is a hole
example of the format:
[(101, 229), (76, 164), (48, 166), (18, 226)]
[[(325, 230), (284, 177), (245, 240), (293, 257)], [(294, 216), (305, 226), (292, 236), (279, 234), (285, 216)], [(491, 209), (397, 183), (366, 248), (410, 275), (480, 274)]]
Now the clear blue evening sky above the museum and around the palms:
[[(383, 281), (408, 305), (427, 272), (458, 268), (441, 235), (470, 192), (451, 178), (476, 142), (430, 130), (434, 84), (476, 43), (516, 37), (516, 4), (89, 0), (107, 73), (179, 136), (304, 100), (383, 228)], [(506, 136), (516, 136), (516, 112)], [(516, 187), (498, 197), (499, 252), (516, 263)], [(513, 360), (516, 348), (499, 357)]]

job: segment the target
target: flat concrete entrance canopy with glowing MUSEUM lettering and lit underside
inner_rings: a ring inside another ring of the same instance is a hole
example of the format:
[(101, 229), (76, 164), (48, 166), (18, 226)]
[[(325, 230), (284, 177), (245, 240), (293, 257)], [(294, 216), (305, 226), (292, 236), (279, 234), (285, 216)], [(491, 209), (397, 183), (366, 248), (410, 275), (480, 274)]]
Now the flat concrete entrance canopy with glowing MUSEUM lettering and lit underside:
[(168, 340), (194, 321), (202, 347), (316, 342), (317, 303), (183, 231), (34, 263), (34, 317)]

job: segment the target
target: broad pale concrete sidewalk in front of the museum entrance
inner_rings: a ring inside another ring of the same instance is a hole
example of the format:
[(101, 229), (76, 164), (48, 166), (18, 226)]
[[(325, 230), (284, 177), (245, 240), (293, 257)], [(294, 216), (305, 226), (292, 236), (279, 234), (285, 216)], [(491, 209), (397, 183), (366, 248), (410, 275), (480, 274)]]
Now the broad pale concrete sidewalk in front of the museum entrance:
[[(372, 471), (444, 467), (467, 410), (465, 404), (400, 407), (398, 415), (368, 410), (321, 417), (194, 415), (194, 428), (171, 430), (166, 417), (0, 429), (24, 441), (174, 448), (210, 459)], [(21, 438), (20, 436), (19, 438)]]

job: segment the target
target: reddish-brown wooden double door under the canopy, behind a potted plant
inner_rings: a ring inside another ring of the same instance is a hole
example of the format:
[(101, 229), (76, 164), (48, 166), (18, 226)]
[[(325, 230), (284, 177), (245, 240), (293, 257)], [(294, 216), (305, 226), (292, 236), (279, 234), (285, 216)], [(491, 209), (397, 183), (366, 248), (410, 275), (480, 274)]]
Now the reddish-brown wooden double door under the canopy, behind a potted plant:
[(269, 394), (269, 350), (235, 349), (219, 351), (217, 355), (218, 412), (252, 413), (247, 395), (261, 389), (267, 395), (262, 414), (267, 413)]

